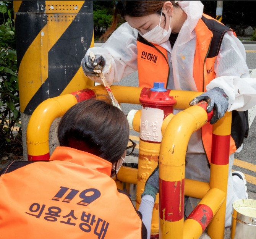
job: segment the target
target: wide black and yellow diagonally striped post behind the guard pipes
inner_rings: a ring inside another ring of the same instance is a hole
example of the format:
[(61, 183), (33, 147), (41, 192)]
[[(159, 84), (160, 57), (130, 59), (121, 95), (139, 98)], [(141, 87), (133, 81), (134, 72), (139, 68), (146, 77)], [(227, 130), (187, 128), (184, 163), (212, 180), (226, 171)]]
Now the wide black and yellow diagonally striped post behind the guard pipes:
[(13, 1), (13, 6), (26, 145), (28, 120), (41, 102), (94, 85), (81, 68), (94, 46), (93, 11), (92, 1)]

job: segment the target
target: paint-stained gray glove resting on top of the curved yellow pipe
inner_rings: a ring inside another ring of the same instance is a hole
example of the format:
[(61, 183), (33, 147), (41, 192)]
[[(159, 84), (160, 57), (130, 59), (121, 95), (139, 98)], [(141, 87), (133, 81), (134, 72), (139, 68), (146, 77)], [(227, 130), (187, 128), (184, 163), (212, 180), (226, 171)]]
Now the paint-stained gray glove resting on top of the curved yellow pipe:
[(207, 102), (206, 112), (209, 113), (213, 110), (210, 124), (216, 123), (217, 120), (224, 116), (228, 109), (228, 96), (219, 87), (214, 87), (194, 98), (190, 101), (190, 105), (196, 105), (202, 100)]

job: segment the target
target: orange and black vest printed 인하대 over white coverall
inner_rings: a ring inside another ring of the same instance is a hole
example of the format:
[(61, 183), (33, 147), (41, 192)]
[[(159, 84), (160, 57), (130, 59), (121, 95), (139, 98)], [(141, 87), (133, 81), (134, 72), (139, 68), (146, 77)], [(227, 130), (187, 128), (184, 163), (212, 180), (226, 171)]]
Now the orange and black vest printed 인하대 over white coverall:
[[(205, 92), (207, 84), (216, 76), (214, 62), (219, 53), (223, 36), (227, 31), (232, 31), (232, 29), (205, 14), (195, 27), (196, 50), (193, 77), (199, 92)], [(233, 34), (235, 35), (235, 32)], [(137, 48), (139, 86), (152, 87), (153, 82), (157, 81), (164, 82), (167, 87), (170, 73), (167, 51), (159, 45), (147, 42), (139, 34)], [(240, 132), (237, 131), (237, 125), (242, 128)], [(232, 111), (230, 154), (241, 146), (243, 138), (247, 137), (247, 134), (248, 111)], [(211, 162), (212, 125), (210, 123), (202, 127), (202, 140), (207, 158)]]

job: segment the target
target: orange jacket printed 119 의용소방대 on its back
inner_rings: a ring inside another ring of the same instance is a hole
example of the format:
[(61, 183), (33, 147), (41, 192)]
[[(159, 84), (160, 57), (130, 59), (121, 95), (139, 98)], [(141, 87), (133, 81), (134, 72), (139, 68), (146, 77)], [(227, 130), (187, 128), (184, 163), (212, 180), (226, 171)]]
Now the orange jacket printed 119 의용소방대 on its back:
[(69, 147), (57, 147), (50, 161), (11, 163), (0, 173), (0, 239), (146, 238), (111, 167)]

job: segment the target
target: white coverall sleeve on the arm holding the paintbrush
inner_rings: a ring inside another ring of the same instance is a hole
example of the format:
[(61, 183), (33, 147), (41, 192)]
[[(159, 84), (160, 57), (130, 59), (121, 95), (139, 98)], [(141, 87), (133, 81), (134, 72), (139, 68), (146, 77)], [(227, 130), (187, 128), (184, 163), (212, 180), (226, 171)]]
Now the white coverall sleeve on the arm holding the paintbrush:
[[(93, 52), (94, 55), (102, 55), (105, 58), (106, 65), (102, 73), (109, 86), (138, 69), (137, 36), (138, 31), (130, 27), (128, 23), (124, 23), (112, 33), (101, 47), (92, 47), (87, 50), (85, 56)], [(99, 77), (90, 78), (102, 84)]]

